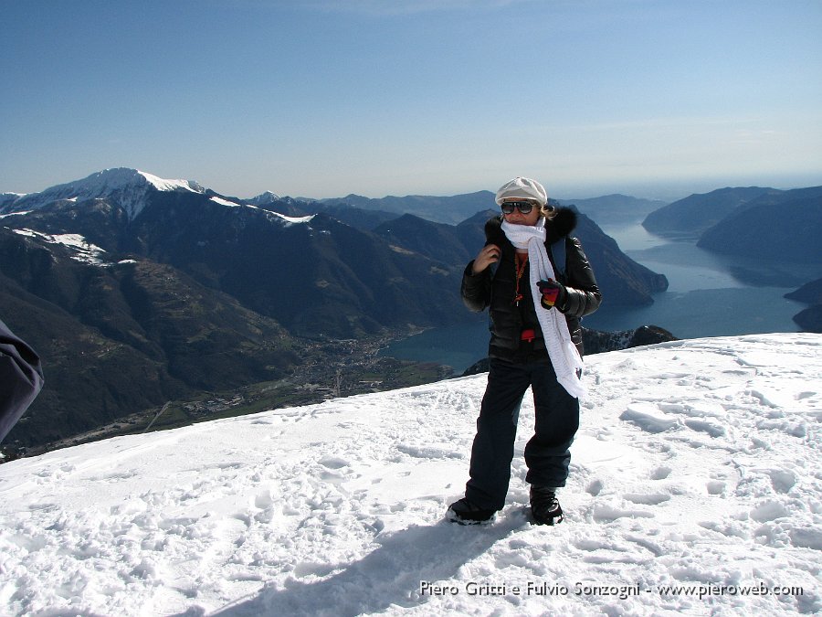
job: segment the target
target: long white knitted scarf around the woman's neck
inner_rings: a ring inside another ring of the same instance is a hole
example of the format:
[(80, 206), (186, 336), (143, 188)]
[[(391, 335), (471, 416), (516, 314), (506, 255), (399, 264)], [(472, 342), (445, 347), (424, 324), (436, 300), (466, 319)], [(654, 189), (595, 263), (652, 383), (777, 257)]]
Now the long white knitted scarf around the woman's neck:
[(546, 310), (540, 303), (541, 295), (536, 286), (538, 281), (556, 279), (553, 265), (551, 260), (548, 259), (548, 252), (545, 250), (545, 218), (541, 217), (533, 227), (530, 225), (511, 225), (508, 221), (503, 220), (502, 231), (505, 232), (505, 237), (511, 240), (514, 247), (528, 250), (528, 261), (531, 262), (529, 268), (531, 272), (531, 296), (537, 319), (543, 329), (548, 357), (551, 358), (557, 381), (567, 390), (568, 394), (579, 399), (585, 395), (585, 387), (579, 379), (579, 372), (583, 367), (582, 357), (579, 356), (579, 350), (574, 345), (574, 341), (571, 340), (571, 333), (568, 331), (565, 315), (558, 310)]

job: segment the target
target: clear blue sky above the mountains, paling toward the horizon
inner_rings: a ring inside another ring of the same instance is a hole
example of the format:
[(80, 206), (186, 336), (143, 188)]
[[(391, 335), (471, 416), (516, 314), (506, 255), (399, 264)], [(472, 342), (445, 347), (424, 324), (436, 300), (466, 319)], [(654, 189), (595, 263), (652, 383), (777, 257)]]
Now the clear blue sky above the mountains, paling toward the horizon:
[(822, 0), (0, 0), (0, 192), (822, 184)]

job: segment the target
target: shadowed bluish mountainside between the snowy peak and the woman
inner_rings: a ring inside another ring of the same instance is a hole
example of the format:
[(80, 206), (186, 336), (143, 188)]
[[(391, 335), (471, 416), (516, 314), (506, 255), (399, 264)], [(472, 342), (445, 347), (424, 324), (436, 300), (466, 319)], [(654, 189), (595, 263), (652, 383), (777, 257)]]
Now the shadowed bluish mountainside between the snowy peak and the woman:
[(175, 195), (147, 207), (130, 239), (125, 248), (187, 271), (299, 335), (448, 324), (460, 306), (458, 283), (441, 264), (325, 214), (288, 219)]

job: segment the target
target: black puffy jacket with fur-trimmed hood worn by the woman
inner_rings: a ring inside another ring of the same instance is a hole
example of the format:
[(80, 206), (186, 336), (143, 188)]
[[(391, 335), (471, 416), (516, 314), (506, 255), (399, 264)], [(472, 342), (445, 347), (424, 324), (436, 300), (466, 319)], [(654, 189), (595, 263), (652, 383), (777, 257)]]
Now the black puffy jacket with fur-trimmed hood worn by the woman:
[[(531, 282), (528, 267), (522, 274), (520, 293), (522, 300), (514, 301), (517, 289), (516, 261), (514, 247), (502, 231), (502, 218), (491, 218), (485, 224), (486, 245), (496, 244), (501, 249), (501, 258), (496, 267), (486, 268), (478, 274), (472, 273), (474, 262), (471, 261), (462, 275), (462, 300), (471, 311), (479, 313), (486, 307), (490, 312), (490, 344), (489, 357), (497, 357), (511, 362), (532, 362), (545, 356), (545, 342), (542, 329), (536, 316), (537, 309), (533, 305), (534, 293), (539, 290), (530, 289)], [(579, 350), (583, 354), (582, 331), (579, 320), (587, 314), (592, 314), (599, 308), (602, 295), (596, 286), (594, 271), (585, 257), (585, 252), (579, 240), (569, 234), (576, 227), (576, 213), (571, 208), (560, 207), (553, 218), (545, 223), (545, 248), (553, 269), (556, 271), (557, 281), (565, 288), (562, 303), (557, 303), (551, 309), (564, 313), (568, 322), (568, 330)], [(565, 237), (565, 271), (564, 275), (557, 271), (553, 263), (551, 245)], [(539, 310), (545, 310), (540, 307)], [(523, 330), (533, 330), (536, 338), (531, 343), (522, 340)]]

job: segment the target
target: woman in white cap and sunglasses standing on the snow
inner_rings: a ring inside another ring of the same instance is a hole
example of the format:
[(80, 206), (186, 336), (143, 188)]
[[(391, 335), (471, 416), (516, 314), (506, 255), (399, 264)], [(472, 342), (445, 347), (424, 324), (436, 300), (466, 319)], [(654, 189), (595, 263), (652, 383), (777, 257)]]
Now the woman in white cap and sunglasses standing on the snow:
[(553, 210), (543, 186), (523, 177), (501, 186), (496, 201), (502, 215), (486, 223), (485, 246), (462, 278), (469, 309), (489, 307), (490, 370), (465, 497), (450, 505), (448, 518), (485, 523), (502, 509), (520, 404), (530, 386), (534, 434), (525, 446), (525, 480), (534, 521), (553, 525), (563, 519), (556, 489), (568, 477), (584, 393), (579, 319), (602, 298), (582, 245), (568, 236), (574, 210)]

